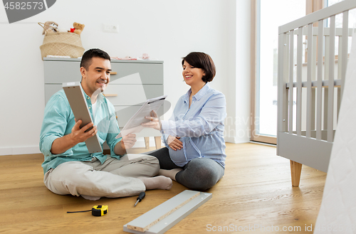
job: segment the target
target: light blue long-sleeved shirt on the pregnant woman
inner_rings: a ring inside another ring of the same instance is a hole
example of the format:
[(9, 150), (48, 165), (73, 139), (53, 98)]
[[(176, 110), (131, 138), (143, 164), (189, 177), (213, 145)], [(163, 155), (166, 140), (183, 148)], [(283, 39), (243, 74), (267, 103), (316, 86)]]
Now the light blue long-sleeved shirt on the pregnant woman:
[[(169, 120), (162, 120), (162, 134), (169, 156), (177, 166), (184, 166), (195, 158), (209, 158), (225, 166), (224, 119), (226, 100), (224, 94), (208, 83), (192, 97), (192, 90), (179, 98)], [(183, 149), (174, 151), (167, 144), (167, 137), (181, 137)]]

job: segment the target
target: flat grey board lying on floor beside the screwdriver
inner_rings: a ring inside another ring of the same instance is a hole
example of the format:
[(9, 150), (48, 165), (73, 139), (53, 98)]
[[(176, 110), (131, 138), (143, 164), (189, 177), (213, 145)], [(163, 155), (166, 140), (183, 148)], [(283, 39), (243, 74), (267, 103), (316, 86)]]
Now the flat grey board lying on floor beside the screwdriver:
[(124, 231), (136, 234), (161, 234), (209, 201), (211, 193), (185, 190), (151, 211), (124, 225)]

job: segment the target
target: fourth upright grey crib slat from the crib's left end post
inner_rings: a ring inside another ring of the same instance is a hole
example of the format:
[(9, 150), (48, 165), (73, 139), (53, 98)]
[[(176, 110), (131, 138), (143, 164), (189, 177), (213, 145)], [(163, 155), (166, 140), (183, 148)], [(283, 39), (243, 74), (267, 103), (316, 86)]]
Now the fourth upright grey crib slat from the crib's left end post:
[(323, 91), (323, 26), (324, 21), (318, 23), (318, 82), (317, 82), (317, 105), (316, 105), (316, 139), (321, 139), (321, 111)]

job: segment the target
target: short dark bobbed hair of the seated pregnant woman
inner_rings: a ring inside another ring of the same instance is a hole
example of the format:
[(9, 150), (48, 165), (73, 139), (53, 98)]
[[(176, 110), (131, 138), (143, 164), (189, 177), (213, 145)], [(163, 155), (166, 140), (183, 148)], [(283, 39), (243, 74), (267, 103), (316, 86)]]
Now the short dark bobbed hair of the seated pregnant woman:
[(202, 52), (192, 52), (185, 56), (182, 60), (182, 65), (184, 61), (187, 61), (194, 68), (201, 68), (204, 70), (205, 75), (201, 78), (205, 83), (210, 82), (214, 79), (216, 74), (215, 64), (211, 57)]

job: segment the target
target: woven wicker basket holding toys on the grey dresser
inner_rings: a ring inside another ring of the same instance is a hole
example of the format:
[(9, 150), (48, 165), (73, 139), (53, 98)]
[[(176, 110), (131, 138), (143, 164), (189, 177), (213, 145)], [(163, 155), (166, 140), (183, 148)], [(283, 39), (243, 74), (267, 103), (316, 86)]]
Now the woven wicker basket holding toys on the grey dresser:
[(46, 57), (47, 55), (60, 55), (70, 56), (70, 58), (78, 58), (84, 53), (80, 36), (76, 33), (66, 32), (50, 33), (45, 35), (40, 49), (42, 60), (43, 57)]

